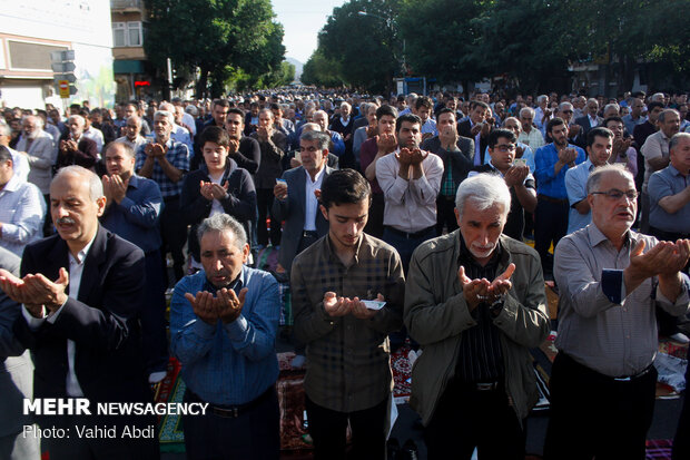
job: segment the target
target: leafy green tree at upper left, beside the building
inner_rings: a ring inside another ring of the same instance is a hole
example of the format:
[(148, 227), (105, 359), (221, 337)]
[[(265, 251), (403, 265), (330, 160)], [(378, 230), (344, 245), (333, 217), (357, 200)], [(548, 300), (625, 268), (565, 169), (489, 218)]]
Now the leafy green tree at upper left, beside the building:
[(198, 96), (209, 78), (215, 97), (238, 69), (258, 79), (280, 66), (283, 27), (273, 22), (269, 0), (146, 0), (146, 7), (147, 56), (159, 69), (167, 58), (198, 68)]

